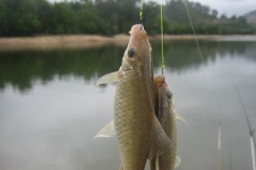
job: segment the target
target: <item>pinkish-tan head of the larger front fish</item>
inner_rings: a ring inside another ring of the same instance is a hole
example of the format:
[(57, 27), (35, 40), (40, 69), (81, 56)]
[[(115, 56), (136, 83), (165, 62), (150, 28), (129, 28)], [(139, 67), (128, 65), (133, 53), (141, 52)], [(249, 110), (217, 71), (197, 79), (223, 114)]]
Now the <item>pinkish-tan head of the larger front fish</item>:
[(131, 37), (124, 52), (122, 70), (133, 70), (143, 77), (152, 77), (151, 45), (148, 42), (147, 32), (143, 25), (132, 26), (129, 32)]

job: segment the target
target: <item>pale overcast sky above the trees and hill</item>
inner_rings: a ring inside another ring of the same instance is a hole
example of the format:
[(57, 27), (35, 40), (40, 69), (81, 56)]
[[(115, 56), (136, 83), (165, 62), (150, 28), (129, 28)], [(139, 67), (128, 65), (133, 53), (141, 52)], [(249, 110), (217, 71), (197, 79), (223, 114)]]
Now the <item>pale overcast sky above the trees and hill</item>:
[[(60, 2), (64, 0), (48, 0), (51, 2)], [(74, 0), (69, 0), (74, 1)], [(76, 0), (75, 0), (76, 1)], [(149, 0), (146, 0), (149, 1)], [(161, 2), (161, 0), (153, 0)], [(228, 17), (235, 15), (240, 16), (248, 12), (256, 10), (256, 0), (188, 0), (199, 2), (200, 4), (208, 5), (211, 9), (216, 9), (219, 14), (225, 13)]]

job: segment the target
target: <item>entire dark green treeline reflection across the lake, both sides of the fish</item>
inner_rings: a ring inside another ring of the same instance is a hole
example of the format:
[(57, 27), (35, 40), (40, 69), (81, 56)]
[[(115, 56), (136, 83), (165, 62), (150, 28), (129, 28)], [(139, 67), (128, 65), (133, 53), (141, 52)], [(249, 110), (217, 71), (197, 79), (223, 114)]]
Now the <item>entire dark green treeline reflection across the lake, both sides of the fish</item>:
[[(153, 42), (154, 66), (159, 67), (161, 46)], [(186, 71), (214, 62), (217, 57), (256, 60), (256, 42), (200, 42), (204, 60), (199, 57), (194, 41), (174, 41), (164, 45), (166, 67), (173, 72)], [(91, 50), (14, 51), (0, 53), (0, 89), (11, 84), (20, 92), (33, 88), (33, 82), (47, 83), (58, 76), (71, 75), (92, 81), (99, 75), (117, 70), (125, 47), (104, 46)]]

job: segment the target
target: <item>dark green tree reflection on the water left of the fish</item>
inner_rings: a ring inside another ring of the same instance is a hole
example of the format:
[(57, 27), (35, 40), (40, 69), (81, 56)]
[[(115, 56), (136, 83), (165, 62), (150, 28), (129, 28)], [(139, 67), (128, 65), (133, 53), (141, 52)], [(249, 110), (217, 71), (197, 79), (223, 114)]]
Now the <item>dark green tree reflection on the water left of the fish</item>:
[(54, 76), (72, 75), (89, 81), (98, 73), (108, 73), (120, 63), (122, 48), (107, 46), (92, 50), (20, 51), (1, 53), (0, 88), (10, 83), (24, 91), (33, 81), (43, 83)]

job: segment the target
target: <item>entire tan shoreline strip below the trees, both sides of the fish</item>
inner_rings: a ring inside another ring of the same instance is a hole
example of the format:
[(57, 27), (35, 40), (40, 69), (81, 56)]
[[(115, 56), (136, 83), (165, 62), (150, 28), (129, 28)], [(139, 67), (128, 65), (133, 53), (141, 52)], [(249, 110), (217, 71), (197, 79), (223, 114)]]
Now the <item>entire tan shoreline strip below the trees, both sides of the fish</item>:
[[(35, 37), (0, 37), (0, 51), (88, 49), (113, 44), (125, 46), (129, 35), (45, 35)], [(164, 41), (194, 40), (194, 35), (164, 35)], [(198, 40), (256, 42), (256, 35), (196, 35)], [(149, 35), (149, 41), (160, 41), (161, 35)]]

